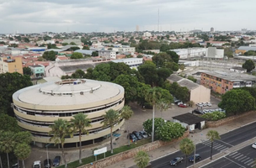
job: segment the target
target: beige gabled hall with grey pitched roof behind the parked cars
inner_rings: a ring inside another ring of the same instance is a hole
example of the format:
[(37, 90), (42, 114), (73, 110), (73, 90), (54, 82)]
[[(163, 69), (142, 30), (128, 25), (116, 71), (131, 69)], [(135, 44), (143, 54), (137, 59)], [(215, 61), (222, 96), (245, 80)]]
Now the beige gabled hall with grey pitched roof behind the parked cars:
[(168, 76), (167, 80), (171, 83), (177, 82), (180, 87), (187, 87), (189, 89), (189, 101), (199, 103), (210, 102), (211, 100), (211, 90), (195, 83), (194, 81), (190, 81), (175, 74)]

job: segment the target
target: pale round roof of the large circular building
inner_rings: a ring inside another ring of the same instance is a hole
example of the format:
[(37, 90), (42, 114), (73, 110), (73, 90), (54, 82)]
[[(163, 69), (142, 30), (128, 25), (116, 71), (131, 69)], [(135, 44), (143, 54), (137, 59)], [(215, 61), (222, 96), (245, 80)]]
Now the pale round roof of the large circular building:
[(25, 87), (13, 94), (13, 99), (36, 106), (84, 106), (109, 101), (124, 94), (124, 88), (115, 83), (88, 79), (50, 81)]

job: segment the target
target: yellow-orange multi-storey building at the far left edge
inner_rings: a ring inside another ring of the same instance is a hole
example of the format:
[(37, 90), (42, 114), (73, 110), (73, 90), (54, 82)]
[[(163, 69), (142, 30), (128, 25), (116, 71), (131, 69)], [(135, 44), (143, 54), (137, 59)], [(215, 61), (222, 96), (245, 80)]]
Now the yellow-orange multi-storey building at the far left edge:
[(0, 73), (19, 72), (23, 74), (22, 57), (0, 57)]

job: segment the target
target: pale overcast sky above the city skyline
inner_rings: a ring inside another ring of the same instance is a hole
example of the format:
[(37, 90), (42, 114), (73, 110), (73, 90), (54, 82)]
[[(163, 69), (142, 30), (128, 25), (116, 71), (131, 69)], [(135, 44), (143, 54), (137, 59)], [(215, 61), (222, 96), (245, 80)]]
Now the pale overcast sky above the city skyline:
[(0, 0), (0, 33), (256, 28), (256, 0)]

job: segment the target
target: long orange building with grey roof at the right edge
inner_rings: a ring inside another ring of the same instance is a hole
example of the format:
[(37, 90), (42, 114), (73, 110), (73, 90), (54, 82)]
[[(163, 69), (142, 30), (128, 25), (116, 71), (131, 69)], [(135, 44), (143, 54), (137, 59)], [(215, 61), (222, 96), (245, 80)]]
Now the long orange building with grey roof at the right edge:
[(205, 71), (201, 73), (200, 84), (213, 92), (224, 94), (232, 88), (253, 87), (256, 76), (236, 72)]

